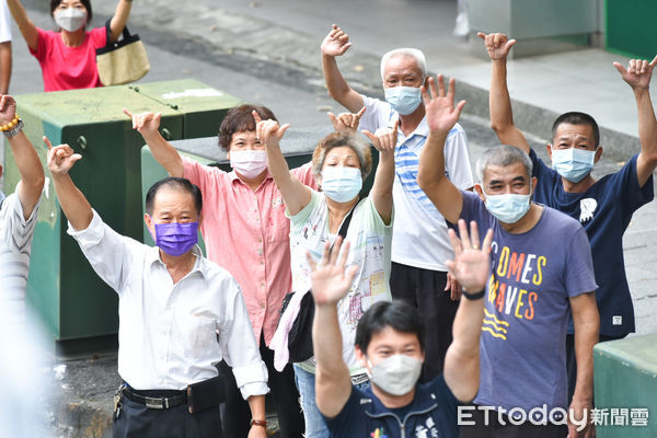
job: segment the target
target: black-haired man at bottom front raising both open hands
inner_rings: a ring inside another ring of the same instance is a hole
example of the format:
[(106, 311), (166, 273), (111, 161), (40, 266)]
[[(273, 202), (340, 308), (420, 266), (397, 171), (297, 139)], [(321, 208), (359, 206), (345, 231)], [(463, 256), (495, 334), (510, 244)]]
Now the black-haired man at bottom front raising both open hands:
[(417, 309), (400, 300), (378, 302), (360, 319), (355, 349), (368, 370), (370, 387), (360, 391), (351, 385), (342, 354), (337, 302), (349, 291), (356, 266), (345, 270), (348, 243), (337, 260), (342, 238), (331, 254), (326, 247), (319, 265), (309, 255), (316, 403), (332, 437), (458, 437), (458, 404), (471, 401), (479, 388), (479, 342), (493, 237), (489, 230), (480, 250), (476, 224), (471, 226), (472, 240), (464, 221), (459, 228), (460, 242), (450, 230), (454, 261), (447, 266), (463, 286), (464, 299), (454, 319), (443, 373), (425, 384), (417, 383), (425, 358), (424, 326)]

